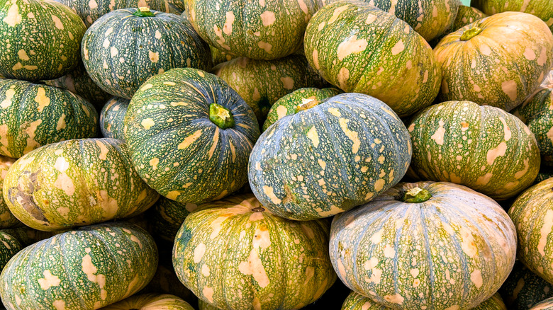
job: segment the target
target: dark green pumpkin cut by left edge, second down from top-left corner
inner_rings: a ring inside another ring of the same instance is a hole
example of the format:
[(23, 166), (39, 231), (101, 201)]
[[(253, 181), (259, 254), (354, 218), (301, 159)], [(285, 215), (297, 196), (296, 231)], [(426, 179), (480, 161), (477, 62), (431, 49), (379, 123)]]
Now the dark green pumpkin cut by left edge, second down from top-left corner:
[(70, 91), (28, 81), (0, 80), (0, 155), (98, 134), (98, 113)]

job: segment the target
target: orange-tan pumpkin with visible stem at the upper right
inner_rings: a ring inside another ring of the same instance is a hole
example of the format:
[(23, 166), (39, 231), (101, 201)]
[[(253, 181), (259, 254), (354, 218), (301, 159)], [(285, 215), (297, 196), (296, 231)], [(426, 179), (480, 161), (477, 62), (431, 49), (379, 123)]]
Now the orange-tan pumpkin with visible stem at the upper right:
[(442, 67), (440, 101), (472, 101), (510, 111), (551, 69), (553, 34), (540, 18), (505, 12), (450, 33), (434, 53)]

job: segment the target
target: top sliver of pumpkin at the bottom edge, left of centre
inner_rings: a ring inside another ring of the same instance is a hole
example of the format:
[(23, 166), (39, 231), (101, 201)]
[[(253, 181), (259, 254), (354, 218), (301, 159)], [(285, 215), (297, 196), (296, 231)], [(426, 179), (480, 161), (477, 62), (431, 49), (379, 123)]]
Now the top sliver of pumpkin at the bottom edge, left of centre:
[(103, 310), (194, 310), (181, 298), (171, 294), (140, 294), (102, 308)]

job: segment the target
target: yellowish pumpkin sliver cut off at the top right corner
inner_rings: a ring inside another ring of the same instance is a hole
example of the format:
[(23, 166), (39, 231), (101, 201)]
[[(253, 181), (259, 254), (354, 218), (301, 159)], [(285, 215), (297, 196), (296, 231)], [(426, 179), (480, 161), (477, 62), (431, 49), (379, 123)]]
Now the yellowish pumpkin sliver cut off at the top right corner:
[(472, 0), (471, 6), (488, 15), (506, 11), (530, 13), (541, 18), (553, 32), (553, 2), (549, 0)]

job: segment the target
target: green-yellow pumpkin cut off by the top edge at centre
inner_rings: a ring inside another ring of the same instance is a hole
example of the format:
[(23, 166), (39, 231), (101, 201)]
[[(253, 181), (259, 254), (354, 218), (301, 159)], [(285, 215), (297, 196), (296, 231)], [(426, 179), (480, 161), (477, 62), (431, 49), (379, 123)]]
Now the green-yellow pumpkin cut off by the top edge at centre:
[(189, 20), (213, 47), (240, 57), (277, 59), (301, 46), (318, 0), (184, 1)]

